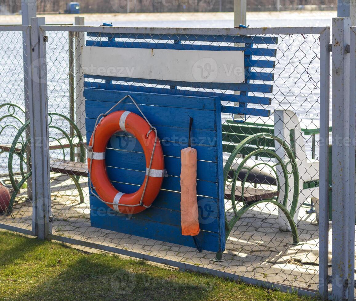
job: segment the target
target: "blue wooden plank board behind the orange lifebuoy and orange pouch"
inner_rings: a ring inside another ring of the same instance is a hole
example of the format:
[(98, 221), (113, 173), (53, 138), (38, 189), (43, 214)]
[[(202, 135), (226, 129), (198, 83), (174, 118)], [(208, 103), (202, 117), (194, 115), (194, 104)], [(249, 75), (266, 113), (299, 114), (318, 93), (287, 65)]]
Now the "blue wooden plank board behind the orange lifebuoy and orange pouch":
[[(218, 154), (218, 147), (219, 151), (222, 150), (222, 140), (217, 138), (216, 132), (219, 129), (221, 133), (220, 100), (85, 88), (85, 97), (92, 99), (86, 101), (87, 139), (94, 129), (96, 117), (128, 93), (137, 101), (150, 122), (157, 126), (160, 138), (163, 137), (162, 148), (168, 177), (164, 178), (161, 192), (152, 207), (130, 218), (115, 213), (91, 196), (91, 225), (194, 247), (192, 237), (182, 236), (180, 227), (180, 150), (187, 147), (189, 117), (193, 117), (193, 138), (194, 135), (201, 135), (195, 141), (201, 159), (197, 170), (201, 227), (198, 238), (205, 250), (224, 250), (224, 194), (221, 194), (219, 186), (219, 174), (221, 177), (223, 169), (222, 166), (218, 168), (217, 162), (218, 156), (222, 155)], [(120, 103), (114, 111), (128, 110), (140, 114), (134, 104), (129, 100), (125, 102)], [(143, 182), (146, 160), (142, 147), (135, 142), (131, 146), (128, 146), (130, 143), (125, 145), (125, 141), (122, 141), (124, 138), (131, 138), (131, 142), (135, 139), (132, 135), (125, 137), (123, 133), (117, 133), (111, 139), (106, 150), (107, 172), (117, 190), (132, 193)]]

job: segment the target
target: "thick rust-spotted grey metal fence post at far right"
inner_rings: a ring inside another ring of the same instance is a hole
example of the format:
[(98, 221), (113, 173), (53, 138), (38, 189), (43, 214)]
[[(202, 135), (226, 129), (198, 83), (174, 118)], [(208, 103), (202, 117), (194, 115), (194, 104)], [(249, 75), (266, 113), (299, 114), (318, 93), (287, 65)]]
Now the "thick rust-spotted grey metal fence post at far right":
[[(354, 300), (355, 102), (350, 101), (350, 17), (332, 28), (332, 289), (336, 300)], [(352, 116), (353, 115), (353, 116)], [(352, 245), (350, 241), (352, 239)]]

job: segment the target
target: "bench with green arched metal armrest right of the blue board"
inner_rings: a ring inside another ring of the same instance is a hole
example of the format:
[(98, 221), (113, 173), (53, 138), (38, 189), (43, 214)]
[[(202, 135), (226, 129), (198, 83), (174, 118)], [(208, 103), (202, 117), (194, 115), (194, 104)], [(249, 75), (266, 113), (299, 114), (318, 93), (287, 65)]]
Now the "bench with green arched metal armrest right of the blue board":
[[(293, 216), (297, 208), (299, 174), (292, 149), (285, 141), (273, 134), (273, 127), (269, 125), (228, 121), (222, 125), (222, 128), (224, 157), (229, 155), (224, 164), (225, 199), (231, 201), (234, 214), (229, 220), (225, 212), (226, 240), (236, 222), (248, 209), (258, 204), (271, 203), (286, 216), (292, 230), (293, 244), (297, 244), (298, 231)], [(275, 144), (281, 146), (287, 160), (276, 154)], [(268, 160), (256, 160), (260, 158)], [(269, 177), (267, 172), (257, 174), (256, 169), (266, 167), (270, 174), (274, 173), (274, 177)], [(288, 192), (290, 177), (294, 179), (293, 201), (291, 209), (288, 210), (286, 208), (288, 193), (282, 196), (280, 192), (281, 190)], [(281, 178), (284, 179), (283, 183)], [(272, 179), (273, 183), (271, 183)], [(251, 183), (255, 187), (248, 187)], [(257, 188), (257, 184), (275, 185), (276, 189)], [(243, 203), (240, 209), (236, 207), (238, 202)], [(222, 253), (217, 253), (216, 259), (221, 260), (221, 258)]]

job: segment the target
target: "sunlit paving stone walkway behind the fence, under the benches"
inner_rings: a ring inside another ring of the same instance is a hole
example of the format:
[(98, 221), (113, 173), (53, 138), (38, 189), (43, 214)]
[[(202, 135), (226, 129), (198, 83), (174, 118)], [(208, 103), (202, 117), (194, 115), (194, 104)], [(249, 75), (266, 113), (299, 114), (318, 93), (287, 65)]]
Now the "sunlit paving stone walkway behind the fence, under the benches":
[[(83, 182), (84, 195), (88, 195), (86, 186), (87, 183)], [(23, 191), (17, 198), (15, 218), (0, 216), (0, 222), (31, 229), (32, 204), (25, 194), (26, 191)], [(226, 208), (229, 209), (229, 204), (226, 204)], [(278, 210), (275, 206), (262, 204), (249, 210), (239, 220), (226, 243), (223, 260), (216, 262), (212, 260), (215, 258), (212, 252), (198, 253), (193, 248), (177, 244), (91, 227), (89, 198), (86, 197), (85, 203), (79, 204), (78, 192), (70, 181), (60, 181), (59, 178), (52, 180), (53, 234), (274, 283), (317, 289), (319, 227), (315, 214), (305, 214), (305, 209), (308, 208), (301, 210), (304, 216), (298, 221), (298, 246), (292, 245), (290, 232), (278, 229)], [(331, 262), (331, 246), (329, 249)]]

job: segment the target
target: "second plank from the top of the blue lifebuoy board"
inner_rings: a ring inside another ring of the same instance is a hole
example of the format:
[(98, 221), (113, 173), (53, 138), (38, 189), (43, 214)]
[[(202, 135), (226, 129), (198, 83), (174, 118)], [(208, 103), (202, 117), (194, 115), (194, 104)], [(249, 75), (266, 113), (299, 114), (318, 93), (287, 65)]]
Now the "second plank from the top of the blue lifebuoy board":
[[(100, 113), (107, 112), (114, 103), (106, 101), (85, 101), (88, 118), (98, 118)], [(197, 129), (216, 130), (216, 118), (214, 111), (204, 111), (190, 108), (173, 108), (158, 106), (140, 106), (143, 114), (146, 115), (152, 125), (176, 126), (180, 128), (189, 127), (189, 117), (194, 118), (194, 127)], [(123, 103), (113, 111), (130, 111), (141, 115), (135, 104)], [(177, 118), (179, 116), (180, 118)], [(188, 121), (187, 121), (188, 120)]]

